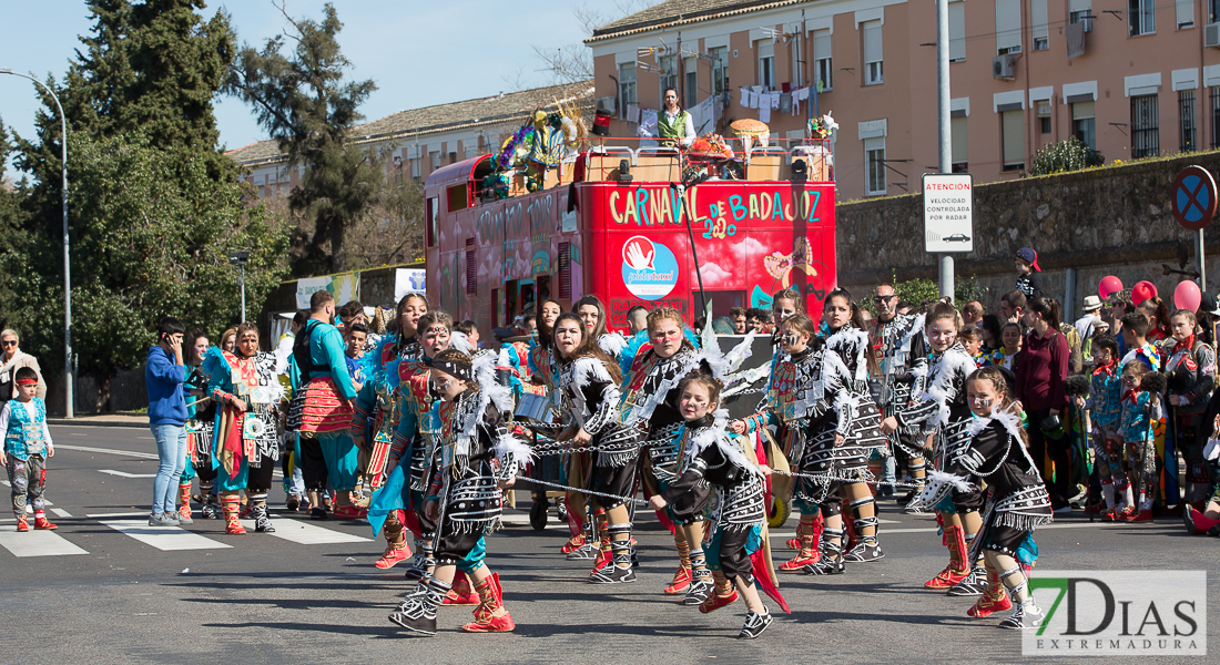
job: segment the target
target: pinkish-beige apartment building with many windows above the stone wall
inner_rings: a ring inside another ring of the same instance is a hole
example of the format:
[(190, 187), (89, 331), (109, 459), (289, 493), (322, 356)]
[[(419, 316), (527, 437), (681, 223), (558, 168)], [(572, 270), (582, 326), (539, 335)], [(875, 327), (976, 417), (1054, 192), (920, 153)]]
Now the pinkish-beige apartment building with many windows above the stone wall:
[[(949, 2), (954, 171), (1016, 178), (1042, 145), (1080, 137), (1107, 161), (1220, 146), (1220, 0)], [(937, 167), (931, 0), (667, 0), (586, 40), (611, 133), (672, 85), (687, 107), (741, 89), (816, 85), (839, 124), (839, 198), (917, 190)], [(811, 99), (810, 99), (811, 100)], [(791, 102), (791, 99), (787, 101)], [(787, 104), (784, 102), (784, 104)], [(772, 138), (799, 115), (771, 111)]]

